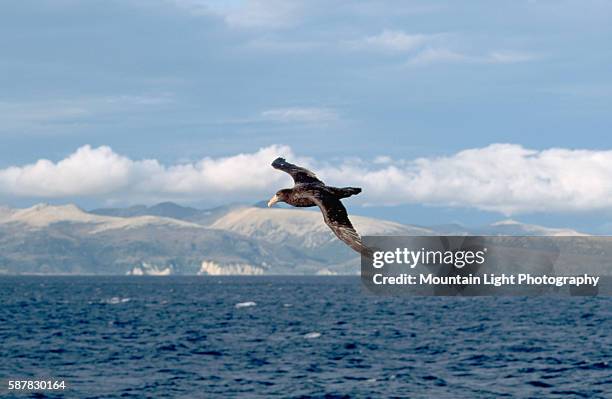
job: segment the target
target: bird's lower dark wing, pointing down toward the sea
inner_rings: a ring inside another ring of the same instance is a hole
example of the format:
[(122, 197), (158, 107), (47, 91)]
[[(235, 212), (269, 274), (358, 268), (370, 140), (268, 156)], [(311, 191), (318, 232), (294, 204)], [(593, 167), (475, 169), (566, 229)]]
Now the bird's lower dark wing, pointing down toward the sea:
[(313, 201), (323, 212), (325, 224), (340, 240), (360, 254), (372, 257), (372, 250), (361, 242), (361, 237), (348, 218), (346, 208), (338, 198), (331, 195), (316, 195)]

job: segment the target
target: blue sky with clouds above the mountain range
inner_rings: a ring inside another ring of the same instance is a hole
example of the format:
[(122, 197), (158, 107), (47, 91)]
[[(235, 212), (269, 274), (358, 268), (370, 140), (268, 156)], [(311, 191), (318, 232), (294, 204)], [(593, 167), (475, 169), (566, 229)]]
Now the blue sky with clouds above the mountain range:
[(0, 203), (268, 198), (612, 233), (612, 2), (0, 5)]

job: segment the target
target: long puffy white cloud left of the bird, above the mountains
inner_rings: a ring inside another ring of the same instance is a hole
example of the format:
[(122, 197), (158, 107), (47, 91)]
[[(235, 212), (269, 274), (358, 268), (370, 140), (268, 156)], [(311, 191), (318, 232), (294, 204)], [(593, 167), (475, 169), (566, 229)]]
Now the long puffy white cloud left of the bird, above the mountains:
[(0, 169), (0, 195), (130, 200), (231, 194), (232, 200), (240, 200), (265, 196), (272, 182), (286, 180), (270, 173), (270, 163), (278, 156), (294, 157), (286, 146), (270, 146), (251, 154), (165, 166), (155, 159), (131, 160), (106, 146), (83, 146), (59, 162), (41, 159)]

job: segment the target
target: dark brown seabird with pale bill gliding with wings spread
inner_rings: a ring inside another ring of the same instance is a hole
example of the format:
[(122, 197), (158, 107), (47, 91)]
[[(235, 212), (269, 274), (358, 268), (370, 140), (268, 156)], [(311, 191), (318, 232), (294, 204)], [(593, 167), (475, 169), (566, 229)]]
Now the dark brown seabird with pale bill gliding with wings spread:
[(294, 186), (277, 191), (268, 201), (268, 207), (277, 202), (286, 202), (296, 207), (318, 206), (323, 213), (325, 224), (340, 240), (355, 251), (370, 256), (370, 249), (361, 242), (361, 237), (351, 224), (346, 208), (340, 201), (342, 198), (359, 194), (360, 188), (327, 186), (308, 169), (293, 165), (284, 158), (276, 158), (272, 162), (272, 167), (291, 175)]

